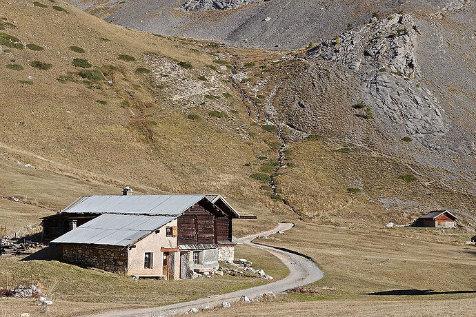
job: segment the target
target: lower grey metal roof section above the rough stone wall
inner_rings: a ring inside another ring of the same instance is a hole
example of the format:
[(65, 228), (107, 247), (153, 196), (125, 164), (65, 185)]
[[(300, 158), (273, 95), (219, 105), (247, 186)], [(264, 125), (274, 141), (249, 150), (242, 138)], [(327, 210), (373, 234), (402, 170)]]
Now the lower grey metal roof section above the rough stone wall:
[(80, 225), (52, 243), (85, 243), (126, 247), (177, 217), (103, 214)]

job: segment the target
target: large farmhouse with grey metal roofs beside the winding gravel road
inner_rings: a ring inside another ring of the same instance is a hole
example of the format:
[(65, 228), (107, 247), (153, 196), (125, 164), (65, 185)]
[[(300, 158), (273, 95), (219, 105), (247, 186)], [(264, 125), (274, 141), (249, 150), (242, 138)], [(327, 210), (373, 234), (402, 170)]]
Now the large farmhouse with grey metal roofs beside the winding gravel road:
[(192, 278), (232, 261), (232, 219), (221, 195), (81, 196), (41, 218), (43, 241), (64, 261), (109, 272), (168, 280)]

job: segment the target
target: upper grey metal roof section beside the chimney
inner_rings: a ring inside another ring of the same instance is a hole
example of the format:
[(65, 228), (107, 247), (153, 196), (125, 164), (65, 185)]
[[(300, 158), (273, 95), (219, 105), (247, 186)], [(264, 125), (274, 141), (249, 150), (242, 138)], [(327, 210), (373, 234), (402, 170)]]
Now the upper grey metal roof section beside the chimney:
[(179, 215), (205, 195), (82, 196), (63, 212)]

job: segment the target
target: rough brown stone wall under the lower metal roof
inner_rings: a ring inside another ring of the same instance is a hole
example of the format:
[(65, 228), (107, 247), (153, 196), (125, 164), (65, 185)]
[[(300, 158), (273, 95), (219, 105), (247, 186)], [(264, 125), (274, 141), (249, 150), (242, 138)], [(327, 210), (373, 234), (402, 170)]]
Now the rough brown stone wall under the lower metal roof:
[(68, 263), (97, 267), (104, 271), (126, 274), (127, 249), (111, 245), (62, 244), (63, 260)]

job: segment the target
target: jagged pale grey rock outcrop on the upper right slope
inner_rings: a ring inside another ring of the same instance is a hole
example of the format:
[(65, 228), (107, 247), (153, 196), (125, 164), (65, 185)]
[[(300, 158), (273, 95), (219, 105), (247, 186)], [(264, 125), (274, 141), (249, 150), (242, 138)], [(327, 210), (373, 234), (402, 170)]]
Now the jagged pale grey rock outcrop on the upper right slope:
[(442, 136), (447, 130), (444, 110), (420, 83), (417, 37), (413, 17), (392, 14), (323, 41), (308, 55), (338, 63), (359, 76), (364, 104), (380, 118), (404, 125), (408, 135)]

